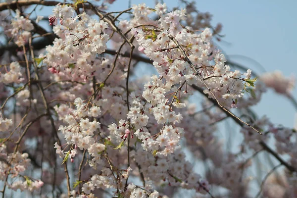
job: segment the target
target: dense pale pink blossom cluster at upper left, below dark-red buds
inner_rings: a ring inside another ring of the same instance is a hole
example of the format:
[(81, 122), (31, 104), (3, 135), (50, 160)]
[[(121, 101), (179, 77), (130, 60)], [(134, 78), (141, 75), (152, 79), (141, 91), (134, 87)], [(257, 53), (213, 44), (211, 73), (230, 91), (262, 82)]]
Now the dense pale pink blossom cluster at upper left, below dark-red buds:
[[(46, 48), (47, 54), (40, 55), (48, 64), (51, 73), (57, 73), (59, 80), (85, 81), (99, 69), (96, 54), (107, 48), (108, 35), (104, 33), (107, 23), (99, 22), (85, 12), (73, 17), (74, 9), (67, 5), (57, 5), (54, 15), (49, 16), (54, 33), (59, 36), (53, 46)], [(57, 24), (57, 19), (60, 24)], [(70, 75), (69, 75), (70, 74)]]

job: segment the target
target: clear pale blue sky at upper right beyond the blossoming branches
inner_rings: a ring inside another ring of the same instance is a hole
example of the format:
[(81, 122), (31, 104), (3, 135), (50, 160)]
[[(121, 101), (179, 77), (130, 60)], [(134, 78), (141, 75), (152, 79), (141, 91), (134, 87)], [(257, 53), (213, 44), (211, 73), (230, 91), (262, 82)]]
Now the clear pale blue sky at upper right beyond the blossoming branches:
[[(163, 0), (169, 8), (178, 0)], [(145, 2), (154, 7), (154, 0)], [(217, 42), (230, 60), (245, 65), (257, 74), (281, 70), (289, 77), (297, 74), (297, 0), (196, 0), (197, 9), (210, 12), (212, 25), (223, 24), (224, 42)], [(128, 8), (128, 0), (116, 0), (110, 10)], [(292, 91), (297, 99), (297, 89)], [(268, 90), (252, 108), (259, 116), (267, 115), (273, 123), (294, 127), (296, 109), (289, 100)]]

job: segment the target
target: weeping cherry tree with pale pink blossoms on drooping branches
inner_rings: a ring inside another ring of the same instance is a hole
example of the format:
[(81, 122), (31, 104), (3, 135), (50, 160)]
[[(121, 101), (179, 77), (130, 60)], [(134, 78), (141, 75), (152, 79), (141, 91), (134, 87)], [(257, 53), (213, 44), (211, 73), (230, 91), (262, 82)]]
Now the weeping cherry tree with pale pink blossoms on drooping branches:
[[(296, 197), (296, 131), (250, 109), (271, 88), (295, 101), (294, 79), (227, 60), (194, 2), (114, 1), (0, 3), (2, 197)], [(278, 163), (264, 177), (260, 152)]]

